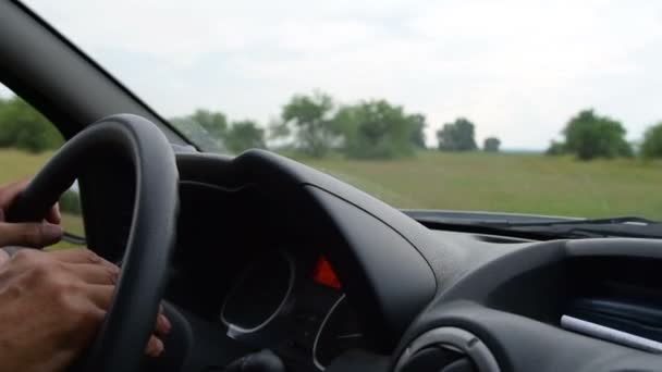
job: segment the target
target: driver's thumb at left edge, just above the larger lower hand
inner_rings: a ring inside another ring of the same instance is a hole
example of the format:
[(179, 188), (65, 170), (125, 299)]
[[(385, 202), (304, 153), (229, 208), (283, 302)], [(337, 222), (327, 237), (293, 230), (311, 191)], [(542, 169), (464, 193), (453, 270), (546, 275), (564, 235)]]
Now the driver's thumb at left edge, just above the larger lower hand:
[(60, 241), (62, 227), (50, 223), (0, 222), (0, 247), (41, 248)]

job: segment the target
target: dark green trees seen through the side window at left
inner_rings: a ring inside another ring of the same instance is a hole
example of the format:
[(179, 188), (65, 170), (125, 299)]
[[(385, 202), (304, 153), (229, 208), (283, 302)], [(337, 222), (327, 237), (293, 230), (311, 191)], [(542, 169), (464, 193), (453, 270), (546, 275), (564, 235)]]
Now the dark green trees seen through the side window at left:
[(58, 128), (32, 106), (19, 97), (0, 101), (0, 147), (41, 152), (62, 146)]

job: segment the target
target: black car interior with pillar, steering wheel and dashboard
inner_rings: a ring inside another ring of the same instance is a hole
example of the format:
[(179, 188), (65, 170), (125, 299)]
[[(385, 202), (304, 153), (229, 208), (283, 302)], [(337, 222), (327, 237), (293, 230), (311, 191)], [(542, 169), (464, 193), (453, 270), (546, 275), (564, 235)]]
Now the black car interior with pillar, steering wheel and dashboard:
[[(662, 244), (446, 228), (266, 150), (204, 153), (53, 27), (0, 2), (0, 82), (68, 144), (11, 213), (78, 181), (122, 275), (86, 371), (660, 371)], [(443, 193), (443, 185), (439, 185)], [(142, 356), (163, 299), (173, 332)]]

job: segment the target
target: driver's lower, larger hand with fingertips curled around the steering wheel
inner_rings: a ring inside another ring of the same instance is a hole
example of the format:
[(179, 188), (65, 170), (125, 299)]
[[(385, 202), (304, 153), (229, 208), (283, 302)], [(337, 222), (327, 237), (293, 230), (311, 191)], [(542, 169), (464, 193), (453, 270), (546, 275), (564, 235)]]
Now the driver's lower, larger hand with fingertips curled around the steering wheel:
[[(85, 350), (110, 306), (119, 269), (87, 249), (24, 249), (0, 265), (0, 371), (60, 371)], [(156, 334), (170, 331), (162, 314)], [(151, 336), (146, 352), (163, 344)]]

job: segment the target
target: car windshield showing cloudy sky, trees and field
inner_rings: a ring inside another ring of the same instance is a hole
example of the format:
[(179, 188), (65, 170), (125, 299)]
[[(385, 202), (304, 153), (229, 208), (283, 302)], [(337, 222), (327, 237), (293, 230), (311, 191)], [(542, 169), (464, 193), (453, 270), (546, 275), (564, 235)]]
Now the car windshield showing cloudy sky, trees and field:
[(662, 2), (27, 2), (206, 151), (400, 208), (662, 219)]

